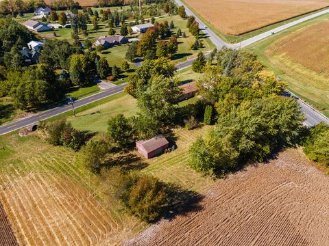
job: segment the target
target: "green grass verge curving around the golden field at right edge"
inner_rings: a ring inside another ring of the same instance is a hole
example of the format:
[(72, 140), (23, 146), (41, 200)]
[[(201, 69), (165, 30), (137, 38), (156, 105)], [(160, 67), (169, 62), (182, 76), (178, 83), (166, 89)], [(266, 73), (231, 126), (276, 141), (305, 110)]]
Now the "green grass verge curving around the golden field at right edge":
[[(317, 107), (320, 110), (326, 109), (323, 112), (328, 116), (329, 115), (328, 101), (327, 102), (324, 101), (320, 96), (323, 93), (323, 91), (317, 90), (317, 86), (309, 83), (309, 80), (308, 83), (306, 83), (305, 77), (303, 77), (302, 74), (292, 72), (293, 69), (291, 70), (287, 70), (287, 68), (280, 69), (279, 68), (280, 66), (273, 64), (271, 61), (269, 61), (269, 59), (267, 59), (265, 55), (269, 46), (271, 46), (271, 44), (276, 42), (276, 40), (280, 40), (280, 38), (284, 38), (289, 34), (293, 33), (294, 31), (297, 31), (304, 27), (308, 27), (310, 25), (314, 25), (324, 20), (328, 20), (328, 14), (324, 16), (319, 16), (312, 20), (308, 20), (305, 23), (301, 23), (300, 25), (291, 27), (290, 29), (284, 30), (280, 33), (276, 33), (274, 36), (271, 36), (269, 38), (266, 38), (265, 40), (261, 40), (260, 42), (248, 46), (247, 48), (245, 48), (245, 50), (256, 53), (260, 61), (262, 61), (263, 64), (265, 64), (265, 66), (269, 68), (269, 70), (275, 72), (276, 75), (281, 77), (283, 81), (287, 81), (289, 90), (291, 90), (291, 92), (297, 94), (298, 96), (300, 96), (300, 98), (306, 100), (308, 103)], [(291, 64), (291, 66), (296, 66), (296, 65)], [(284, 70), (287, 70), (287, 72), (284, 72)]]

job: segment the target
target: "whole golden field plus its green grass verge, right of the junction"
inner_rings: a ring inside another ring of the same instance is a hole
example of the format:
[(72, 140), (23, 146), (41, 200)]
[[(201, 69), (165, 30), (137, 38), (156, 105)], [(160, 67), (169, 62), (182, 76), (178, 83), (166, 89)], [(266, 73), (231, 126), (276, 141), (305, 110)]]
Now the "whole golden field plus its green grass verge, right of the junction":
[(289, 90), (329, 115), (329, 16), (277, 33), (246, 50), (287, 81)]

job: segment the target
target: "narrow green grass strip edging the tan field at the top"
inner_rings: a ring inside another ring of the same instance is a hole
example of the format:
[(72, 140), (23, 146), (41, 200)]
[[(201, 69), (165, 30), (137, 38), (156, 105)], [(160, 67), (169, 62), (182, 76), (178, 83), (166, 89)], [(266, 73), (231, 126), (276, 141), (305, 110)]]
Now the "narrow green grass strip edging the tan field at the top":
[[(225, 33), (222, 33), (221, 31), (217, 30), (208, 20), (206, 20), (205, 18), (203, 18), (202, 16), (200, 16), (197, 13), (197, 11), (195, 11), (193, 8), (191, 8), (191, 6), (188, 5), (188, 3), (186, 3), (186, 1), (184, 1), (184, 0), (181, 0), (181, 1), (184, 3), (184, 5), (188, 6), (188, 8), (193, 12), (193, 14), (195, 14), (195, 16), (197, 16), (200, 20), (202, 20), (202, 22), (204, 24), (206, 24), (208, 28), (210, 28), (217, 36), (219, 36), (219, 38), (221, 38), (222, 40), (224, 40), (225, 42), (228, 42), (230, 44), (234, 44), (234, 43), (241, 42), (243, 40), (247, 40), (248, 38), (252, 38), (254, 36), (257, 36), (260, 33), (264, 33), (265, 31), (269, 31), (269, 30), (274, 29), (276, 27), (280, 27), (280, 26), (282, 26), (284, 24), (291, 23), (294, 20), (298, 20), (300, 18), (304, 18), (306, 16), (309, 16), (311, 14), (315, 14), (317, 12), (321, 12), (321, 11), (324, 10), (324, 9), (323, 10), (317, 10), (315, 12), (304, 14), (302, 16), (297, 16), (297, 17), (291, 18), (289, 20), (284, 20), (284, 21), (282, 21), (280, 23), (269, 25), (267, 27), (263, 27), (263, 28), (260, 28), (258, 30), (255, 30), (255, 31), (250, 31), (249, 33), (245, 33), (245, 34), (242, 34), (242, 35), (239, 35), (239, 36), (232, 36), (232, 35), (227, 35)], [(239, 17), (237, 17), (237, 18), (239, 18)]]

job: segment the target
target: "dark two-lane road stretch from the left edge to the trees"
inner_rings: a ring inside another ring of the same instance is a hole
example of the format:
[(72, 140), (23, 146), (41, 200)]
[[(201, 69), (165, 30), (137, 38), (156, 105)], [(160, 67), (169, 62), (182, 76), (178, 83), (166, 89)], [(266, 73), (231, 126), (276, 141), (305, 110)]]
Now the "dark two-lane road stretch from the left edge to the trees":
[[(98, 94), (95, 94), (93, 96), (88, 96), (86, 98), (82, 98), (80, 100), (77, 100), (77, 101), (74, 102), (74, 107), (75, 108), (82, 107), (84, 105), (88, 105), (91, 102), (95, 102), (97, 100), (101, 100), (101, 99), (106, 98), (108, 96), (112, 96), (114, 94), (122, 92), (125, 86), (126, 86), (126, 84), (119, 85), (119, 86), (113, 87), (109, 90), (99, 92)], [(21, 120), (16, 120), (15, 122), (0, 126), (0, 135), (4, 135), (6, 133), (16, 131), (20, 128), (23, 128), (24, 126), (29, 126), (29, 125), (32, 125), (32, 124), (36, 124), (40, 120), (46, 120), (46, 119), (51, 118), (55, 115), (59, 115), (60, 113), (64, 113), (66, 111), (71, 111), (71, 110), (72, 110), (71, 105), (63, 105), (61, 107), (56, 107), (54, 109), (50, 109), (48, 111), (38, 113), (38, 114), (33, 115), (33, 116), (23, 118)]]

